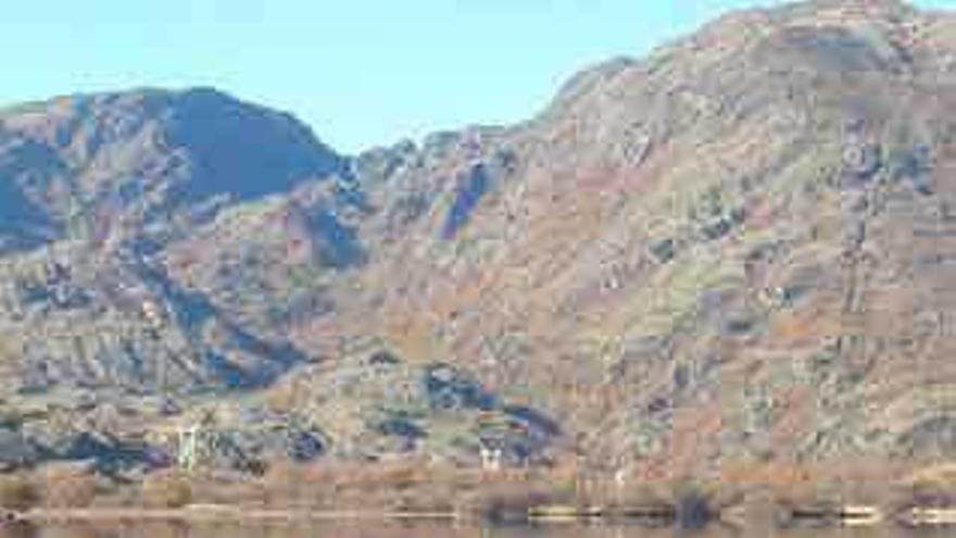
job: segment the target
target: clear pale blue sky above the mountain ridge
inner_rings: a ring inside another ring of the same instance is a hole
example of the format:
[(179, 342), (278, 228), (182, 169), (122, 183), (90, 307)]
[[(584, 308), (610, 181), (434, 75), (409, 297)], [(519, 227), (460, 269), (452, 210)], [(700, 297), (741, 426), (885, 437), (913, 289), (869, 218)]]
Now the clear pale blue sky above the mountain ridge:
[[(0, 103), (215, 86), (354, 152), (541, 109), (581, 67), (775, 0), (9, 0)], [(956, 0), (917, 0), (956, 9)]]

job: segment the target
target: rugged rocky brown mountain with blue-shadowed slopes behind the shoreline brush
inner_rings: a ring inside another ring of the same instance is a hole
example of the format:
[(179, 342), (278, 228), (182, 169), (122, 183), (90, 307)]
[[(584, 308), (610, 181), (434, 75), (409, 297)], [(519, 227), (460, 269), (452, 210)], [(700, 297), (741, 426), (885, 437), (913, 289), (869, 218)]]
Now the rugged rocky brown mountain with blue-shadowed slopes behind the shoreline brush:
[(10, 453), (949, 454), (954, 58), (948, 13), (752, 10), (355, 157), (213, 90), (5, 111)]

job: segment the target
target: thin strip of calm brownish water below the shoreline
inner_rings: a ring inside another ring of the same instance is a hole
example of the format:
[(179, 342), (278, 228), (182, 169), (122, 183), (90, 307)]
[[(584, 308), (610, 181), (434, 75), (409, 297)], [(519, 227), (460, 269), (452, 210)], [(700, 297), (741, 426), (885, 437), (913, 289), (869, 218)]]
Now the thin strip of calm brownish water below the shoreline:
[(0, 526), (0, 538), (916, 538), (956, 536), (956, 530), (896, 527), (788, 529), (714, 526), (690, 531), (640, 526), (455, 527), (437, 524), (287, 525), (72, 525)]

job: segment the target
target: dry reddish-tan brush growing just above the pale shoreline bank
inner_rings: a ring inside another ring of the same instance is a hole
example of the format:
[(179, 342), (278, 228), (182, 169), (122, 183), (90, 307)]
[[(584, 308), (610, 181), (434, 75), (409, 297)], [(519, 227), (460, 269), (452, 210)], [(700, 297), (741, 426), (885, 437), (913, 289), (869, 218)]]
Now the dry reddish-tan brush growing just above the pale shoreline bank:
[[(505, 468), (487, 473), (420, 459), (387, 462), (274, 464), (261, 477), (240, 474), (161, 472), (138, 488), (120, 487), (125, 506), (177, 509), (191, 503), (256, 509), (369, 511), (406, 514), (457, 514), (486, 520), (520, 520), (533, 506), (557, 510), (602, 506), (614, 514), (672, 517), (687, 527), (728, 515), (769, 521), (793, 509), (823, 512), (845, 504), (870, 504), (890, 512), (915, 505), (956, 502), (954, 466), (902, 473), (886, 464), (828, 462), (793, 465), (749, 462), (726, 465), (709, 479), (672, 474), (620, 483), (607, 474), (570, 464)], [(64, 468), (41, 471), (32, 480), (0, 480), (0, 501), (24, 510), (42, 502), (51, 508), (81, 508), (98, 495), (93, 477)], [(37, 485), (45, 493), (37, 496)], [(98, 505), (105, 505), (98, 502)], [(564, 508), (561, 508), (564, 506)], [(566, 508), (566, 509), (565, 509)]]

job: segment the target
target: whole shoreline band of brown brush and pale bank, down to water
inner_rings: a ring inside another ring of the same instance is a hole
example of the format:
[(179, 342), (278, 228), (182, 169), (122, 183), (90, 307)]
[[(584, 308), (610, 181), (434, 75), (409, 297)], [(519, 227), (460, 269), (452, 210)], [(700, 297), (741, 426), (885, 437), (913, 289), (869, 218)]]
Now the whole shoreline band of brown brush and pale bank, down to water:
[(481, 471), (417, 459), (275, 464), (255, 476), (171, 468), (136, 478), (54, 464), (0, 475), (0, 517), (954, 525), (956, 464), (751, 463), (656, 478), (573, 464)]

